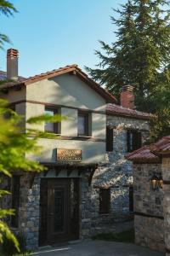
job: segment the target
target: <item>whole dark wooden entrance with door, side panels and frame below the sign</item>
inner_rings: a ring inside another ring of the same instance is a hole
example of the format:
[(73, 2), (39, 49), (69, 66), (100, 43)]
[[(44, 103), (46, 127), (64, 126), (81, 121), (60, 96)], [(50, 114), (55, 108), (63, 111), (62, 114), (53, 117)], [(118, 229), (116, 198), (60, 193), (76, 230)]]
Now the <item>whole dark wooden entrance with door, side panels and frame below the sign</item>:
[(77, 239), (79, 236), (79, 180), (42, 179), (39, 244)]

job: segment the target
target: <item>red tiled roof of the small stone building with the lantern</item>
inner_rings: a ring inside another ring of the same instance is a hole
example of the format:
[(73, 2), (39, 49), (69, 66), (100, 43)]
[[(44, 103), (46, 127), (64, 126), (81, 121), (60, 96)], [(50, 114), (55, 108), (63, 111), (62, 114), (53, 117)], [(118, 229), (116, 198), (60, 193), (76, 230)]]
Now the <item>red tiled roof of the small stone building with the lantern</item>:
[(157, 143), (139, 148), (126, 155), (127, 160), (132, 161), (161, 161), (161, 155), (170, 154), (170, 136), (162, 137)]

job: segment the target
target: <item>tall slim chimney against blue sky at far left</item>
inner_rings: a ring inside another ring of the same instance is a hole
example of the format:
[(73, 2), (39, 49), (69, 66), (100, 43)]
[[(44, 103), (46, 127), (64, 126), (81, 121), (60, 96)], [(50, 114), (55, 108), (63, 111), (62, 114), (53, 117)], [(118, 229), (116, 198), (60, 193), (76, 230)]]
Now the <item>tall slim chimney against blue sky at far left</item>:
[(7, 50), (7, 79), (18, 80), (18, 55), (17, 49)]

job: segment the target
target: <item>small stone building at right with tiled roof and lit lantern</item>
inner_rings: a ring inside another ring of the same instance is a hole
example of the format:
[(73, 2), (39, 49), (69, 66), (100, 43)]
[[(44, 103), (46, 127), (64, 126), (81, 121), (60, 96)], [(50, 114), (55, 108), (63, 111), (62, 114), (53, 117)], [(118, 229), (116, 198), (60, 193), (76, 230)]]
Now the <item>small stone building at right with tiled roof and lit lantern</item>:
[(136, 243), (170, 255), (170, 136), (127, 154), (133, 161)]

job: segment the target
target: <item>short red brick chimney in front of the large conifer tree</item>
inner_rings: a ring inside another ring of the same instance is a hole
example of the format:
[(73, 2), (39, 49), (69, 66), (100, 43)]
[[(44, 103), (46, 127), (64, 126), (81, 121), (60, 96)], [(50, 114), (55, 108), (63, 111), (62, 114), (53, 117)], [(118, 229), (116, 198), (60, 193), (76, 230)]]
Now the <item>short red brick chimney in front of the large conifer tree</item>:
[(134, 108), (134, 96), (132, 85), (124, 85), (122, 87), (121, 106), (123, 108)]

